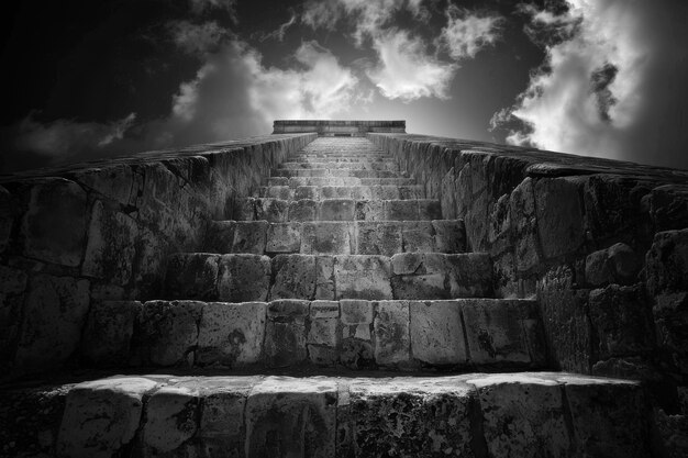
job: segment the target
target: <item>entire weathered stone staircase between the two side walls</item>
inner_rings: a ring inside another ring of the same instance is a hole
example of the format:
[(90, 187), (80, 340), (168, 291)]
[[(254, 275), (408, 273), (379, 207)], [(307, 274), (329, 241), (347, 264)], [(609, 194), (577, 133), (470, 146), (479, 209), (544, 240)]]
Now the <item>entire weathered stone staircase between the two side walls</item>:
[(71, 388), (58, 454), (650, 454), (641, 387), (545, 371), (536, 301), (496, 298), (463, 222), (366, 138), (310, 143), (204, 244), (122, 356), (153, 369)]

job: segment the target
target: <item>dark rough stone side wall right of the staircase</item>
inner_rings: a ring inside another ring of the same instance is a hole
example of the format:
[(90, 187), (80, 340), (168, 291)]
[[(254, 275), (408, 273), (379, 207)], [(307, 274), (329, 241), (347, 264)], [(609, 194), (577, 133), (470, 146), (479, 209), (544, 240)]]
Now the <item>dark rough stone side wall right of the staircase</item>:
[(668, 384), (673, 401), (686, 392), (688, 171), (411, 134), (368, 138), (441, 199), (444, 217), (465, 220), (473, 250), (492, 257), (501, 297), (539, 299), (553, 367)]

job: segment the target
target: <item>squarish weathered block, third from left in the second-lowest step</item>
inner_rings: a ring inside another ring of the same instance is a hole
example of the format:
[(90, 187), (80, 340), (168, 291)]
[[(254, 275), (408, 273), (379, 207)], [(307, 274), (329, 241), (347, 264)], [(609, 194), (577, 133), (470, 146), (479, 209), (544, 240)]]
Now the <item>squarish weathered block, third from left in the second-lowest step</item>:
[(241, 367), (260, 362), (265, 338), (265, 302), (210, 302), (198, 332), (197, 365)]

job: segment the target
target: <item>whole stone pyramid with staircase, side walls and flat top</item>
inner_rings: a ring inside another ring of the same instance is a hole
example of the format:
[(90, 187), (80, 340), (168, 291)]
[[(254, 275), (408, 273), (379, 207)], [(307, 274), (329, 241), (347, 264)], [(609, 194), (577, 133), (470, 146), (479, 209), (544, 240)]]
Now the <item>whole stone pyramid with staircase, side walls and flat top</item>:
[(688, 172), (274, 130), (2, 179), (0, 455), (688, 450)]

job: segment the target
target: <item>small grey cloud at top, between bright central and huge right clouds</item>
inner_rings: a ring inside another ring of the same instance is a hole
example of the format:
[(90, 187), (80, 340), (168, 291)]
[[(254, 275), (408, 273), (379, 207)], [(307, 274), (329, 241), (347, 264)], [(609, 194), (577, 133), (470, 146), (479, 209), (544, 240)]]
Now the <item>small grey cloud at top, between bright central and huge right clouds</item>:
[(499, 40), (503, 18), (499, 15), (469, 14), (454, 4), (446, 10), (447, 25), (442, 29), (440, 41), (456, 59), (474, 58), (480, 49)]

